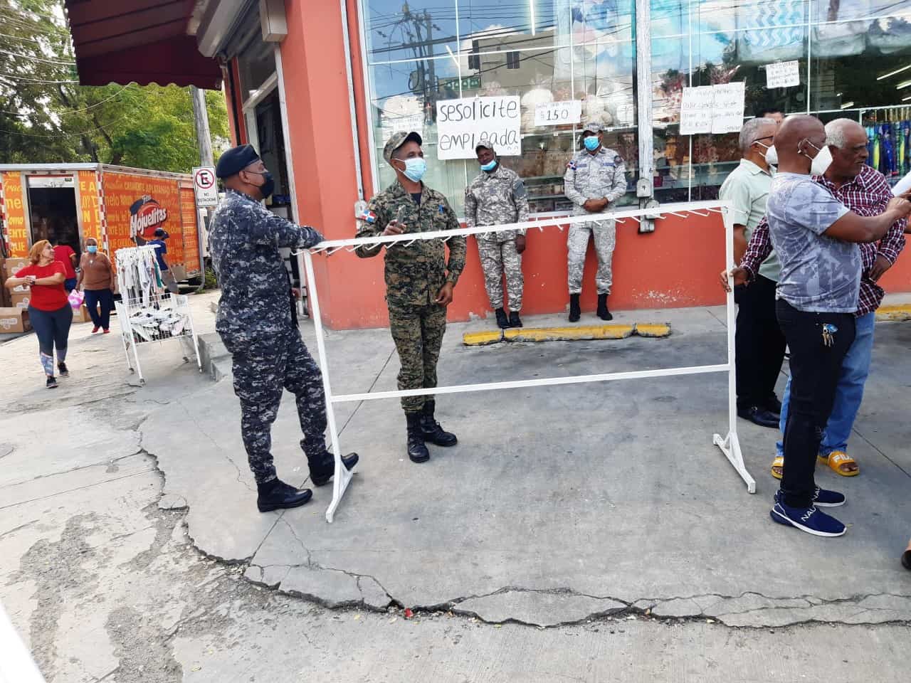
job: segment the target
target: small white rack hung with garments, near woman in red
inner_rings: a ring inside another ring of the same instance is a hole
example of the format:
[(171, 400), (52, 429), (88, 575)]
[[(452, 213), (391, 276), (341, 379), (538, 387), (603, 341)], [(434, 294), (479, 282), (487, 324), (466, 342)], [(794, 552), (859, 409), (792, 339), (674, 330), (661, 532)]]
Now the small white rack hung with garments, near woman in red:
[(123, 343), (130, 372), (138, 372), (139, 384), (145, 384), (146, 379), (142, 375), (138, 347), (148, 342), (180, 340), (183, 360), (189, 362), (189, 353), (192, 352), (202, 372), (200, 344), (193, 326), (189, 298), (165, 290), (155, 258), (155, 248), (120, 249), (115, 258), (122, 300), (115, 301), (114, 304), (120, 321), (120, 341)]

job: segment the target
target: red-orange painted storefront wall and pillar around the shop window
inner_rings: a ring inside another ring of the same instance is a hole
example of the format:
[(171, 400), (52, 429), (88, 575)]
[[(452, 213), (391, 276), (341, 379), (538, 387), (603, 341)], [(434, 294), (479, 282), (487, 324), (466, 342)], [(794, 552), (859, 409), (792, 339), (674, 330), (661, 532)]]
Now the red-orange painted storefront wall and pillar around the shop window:
[[(288, 107), (290, 144), (302, 222), (332, 240), (354, 236), (357, 199), (355, 148), (350, 125), (342, 15), (337, 5), (319, 12), (305, 0), (286, 0), (289, 35), (281, 44)], [(308, 11), (309, 9), (309, 11)], [(354, 55), (353, 80), (361, 138), (363, 186), (371, 182), (367, 126), (360, 61), (356, 3), (348, 0)], [(242, 126), (242, 122), (241, 122)], [(241, 132), (241, 137), (245, 134)], [(566, 230), (531, 230), (524, 257), (526, 314), (563, 311), (568, 304)], [(668, 217), (655, 232), (640, 235), (627, 220), (618, 225), (614, 254), (613, 310), (660, 309), (716, 305), (723, 302), (718, 273), (724, 265), (721, 218)], [(323, 322), (334, 329), (385, 326), (383, 259), (362, 260), (346, 251), (314, 258)], [(593, 247), (589, 249), (583, 287), (583, 310), (595, 308)], [(883, 279), (887, 291), (911, 291), (911, 256), (899, 260)], [(491, 315), (477, 258), (468, 240), (466, 270), (449, 308), (451, 321)]]

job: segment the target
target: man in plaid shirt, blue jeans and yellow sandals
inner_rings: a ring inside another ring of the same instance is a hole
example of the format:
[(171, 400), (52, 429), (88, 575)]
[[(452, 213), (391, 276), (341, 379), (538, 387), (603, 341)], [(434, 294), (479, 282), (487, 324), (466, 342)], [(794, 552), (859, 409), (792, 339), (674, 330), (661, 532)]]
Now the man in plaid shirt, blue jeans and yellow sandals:
[[(832, 164), (824, 176), (814, 176), (814, 181), (829, 189), (835, 199), (859, 216), (878, 216), (892, 199), (892, 191), (882, 173), (865, 164), (868, 156), (864, 127), (849, 118), (839, 118), (825, 126), (826, 144), (832, 151)], [(864, 383), (870, 370), (873, 352), (875, 311), (883, 301), (885, 291), (876, 284), (883, 273), (896, 262), (905, 248), (907, 219), (897, 220), (878, 243), (860, 244), (863, 273), (857, 303), (856, 335), (842, 362), (841, 375), (832, 413), (825, 425), (820, 444), (819, 459), (837, 474), (855, 476), (860, 470), (855, 460), (847, 454), (848, 436), (854, 427), (857, 411), (864, 396)], [(765, 219), (753, 231), (740, 268), (732, 271), (736, 284), (756, 278), (760, 264), (772, 253), (772, 241)], [(791, 380), (784, 390), (782, 417), (779, 427), (784, 433), (788, 403), (791, 398)], [(782, 478), (783, 442), (777, 443), (777, 457), (772, 466), (776, 479)]]

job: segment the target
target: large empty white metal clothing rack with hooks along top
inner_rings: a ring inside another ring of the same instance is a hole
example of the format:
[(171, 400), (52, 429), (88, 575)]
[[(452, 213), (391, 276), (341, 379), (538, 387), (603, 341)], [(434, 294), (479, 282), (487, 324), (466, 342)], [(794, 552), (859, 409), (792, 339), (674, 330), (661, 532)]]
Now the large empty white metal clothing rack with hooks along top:
[(392, 235), (389, 237), (368, 237), (355, 238), (353, 240), (329, 240), (320, 242), (310, 250), (303, 251), (304, 267), (307, 273), (307, 283), (309, 285), (310, 299), (312, 302), (312, 318), (316, 331), (316, 346), (320, 355), (320, 369), (322, 371), (322, 386), (326, 394), (326, 417), (329, 424), (329, 433), (332, 438), (333, 452), (335, 454), (335, 476), (333, 479), (333, 501), (326, 510), (326, 521), (332, 522), (335, 511), (342, 502), (342, 496), (351, 482), (352, 473), (350, 473), (342, 463), (342, 447), (339, 443), (338, 426), (335, 421), (335, 403), (349, 403), (353, 401), (374, 401), (377, 399), (401, 398), (403, 396), (427, 396), (440, 393), (464, 393), (464, 392), (485, 392), (497, 389), (522, 389), (525, 387), (537, 386), (558, 386), (562, 384), (580, 384), (586, 382), (614, 382), (618, 380), (640, 380), (654, 377), (673, 377), (679, 375), (702, 374), (706, 372), (727, 372), (728, 373), (728, 431), (722, 437), (720, 433), (713, 434), (712, 443), (717, 445), (724, 456), (732, 464), (737, 474), (740, 474), (742, 480), (747, 485), (747, 491), (751, 494), (756, 492), (756, 482), (746, 466), (743, 464), (743, 455), (741, 453), (740, 441), (737, 437), (737, 392), (734, 371), (734, 299), (733, 293), (727, 295), (727, 342), (728, 356), (727, 362), (716, 365), (696, 365), (686, 368), (664, 368), (660, 370), (639, 370), (630, 372), (603, 372), (586, 375), (576, 375), (572, 377), (547, 377), (535, 380), (515, 380), (511, 382), (485, 382), (480, 384), (455, 384), (453, 386), (438, 386), (433, 389), (414, 389), (396, 392), (368, 392), (368, 393), (350, 393), (334, 395), (332, 382), (329, 376), (329, 362), (326, 356), (325, 342), (322, 337), (322, 317), (320, 315), (320, 298), (317, 292), (316, 279), (313, 277), (313, 254), (325, 252), (332, 255), (338, 250), (353, 251), (359, 246), (375, 247), (381, 244), (386, 245), (386, 249), (393, 249), (396, 244), (404, 243), (404, 246), (413, 244), (417, 240), (450, 240), (456, 236), (478, 235), (487, 232), (501, 232), (513, 229), (545, 229), (556, 227), (562, 231), (564, 226), (574, 225), (577, 223), (587, 223), (593, 220), (614, 219), (618, 223), (624, 223), (626, 220), (640, 222), (645, 216), (663, 219), (666, 216), (677, 216), (686, 218), (690, 215), (701, 217), (719, 214), (724, 224), (724, 253), (725, 264), (728, 270), (733, 268), (733, 220), (732, 204), (729, 201), (696, 201), (680, 204), (666, 204), (657, 209), (629, 209), (608, 211), (603, 214), (589, 214), (587, 216), (571, 216), (565, 218), (548, 218), (545, 220), (528, 220), (521, 223), (510, 223), (508, 225), (499, 225), (492, 227), (480, 228), (462, 228), (456, 230), (437, 230), (434, 232), (422, 233), (405, 233), (403, 235)]

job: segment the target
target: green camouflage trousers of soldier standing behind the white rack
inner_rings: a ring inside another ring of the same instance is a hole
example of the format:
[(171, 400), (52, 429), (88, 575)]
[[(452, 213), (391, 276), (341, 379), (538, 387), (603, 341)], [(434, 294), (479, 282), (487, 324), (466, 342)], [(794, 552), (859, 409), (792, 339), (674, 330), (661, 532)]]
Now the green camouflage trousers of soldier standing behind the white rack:
[[(431, 389), (436, 386), (436, 362), (440, 358), (443, 334), (446, 331), (445, 306), (401, 306), (389, 304), (389, 328), (393, 333), (395, 351), (402, 369), (398, 388)], [(420, 413), (425, 401), (433, 396), (405, 396), (405, 413)]]

